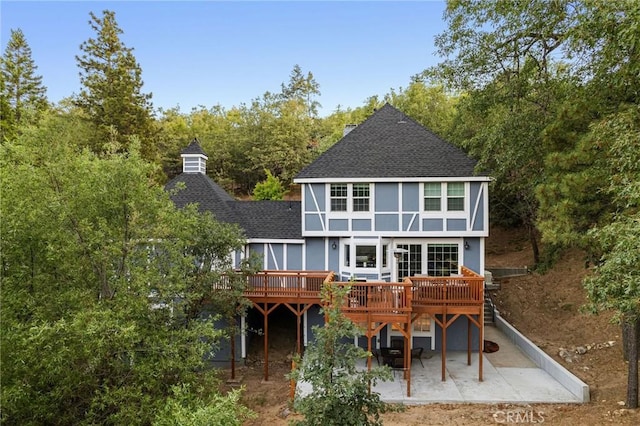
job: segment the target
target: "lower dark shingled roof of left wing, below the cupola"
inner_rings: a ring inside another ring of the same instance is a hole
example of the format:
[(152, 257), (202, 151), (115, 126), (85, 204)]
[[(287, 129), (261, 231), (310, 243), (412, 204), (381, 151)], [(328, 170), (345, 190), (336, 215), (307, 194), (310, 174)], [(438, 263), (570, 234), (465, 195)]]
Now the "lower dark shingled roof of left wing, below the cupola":
[(237, 201), (203, 173), (182, 173), (166, 185), (171, 191), (184, 183), (171, 199), (178, 208), (198, 204), (221, 222), (238, 224), (247, 238), (301, 239), (302, 213), (299, 201)]

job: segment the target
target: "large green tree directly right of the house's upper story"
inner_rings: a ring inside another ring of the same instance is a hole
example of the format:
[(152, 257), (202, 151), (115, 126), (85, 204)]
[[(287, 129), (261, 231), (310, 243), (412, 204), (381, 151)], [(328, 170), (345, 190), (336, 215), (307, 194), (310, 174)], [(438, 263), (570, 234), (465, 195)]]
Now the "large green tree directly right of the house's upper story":
[(637, 104), (640, 6), (605, 3), (449, 2), (436, 45), (450, 57), (425, 73), (466, 92), (451, 137), (491, 173), (492, 218), (529, 230), (536, 263), (539, 231), (552, 251), (590, 248), (611, 213), (608, 142), (589, 126)]

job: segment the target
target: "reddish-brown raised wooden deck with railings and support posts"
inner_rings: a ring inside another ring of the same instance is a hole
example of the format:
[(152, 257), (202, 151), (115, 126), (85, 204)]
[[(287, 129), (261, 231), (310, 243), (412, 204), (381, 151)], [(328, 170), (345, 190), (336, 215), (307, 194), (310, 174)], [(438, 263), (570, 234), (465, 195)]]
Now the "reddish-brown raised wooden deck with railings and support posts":
[[(484, 335), (484, 277), (468, 268), (455, 277), (414, 276), (401, 283), (344, 282), (350, 290), (342, 303), (345, 316), (363, 327), (371, 351), (371, 340), (385, 326), (392, 324), (404, 336), (404, 365), (407, 393), (410, 395), (410, 347), (412, 322), (429, 315), (442, 329), (442, 380), (446, 370), (447, 328), (460, 316), (468, 320), (468, 363), (471, 364), (471, 326), (480, 330), (479, 380), (482, 380), (482, 342)], [(296, 315), (297, 347), (300, 351), (302, 315), (313, 305), (321, 305), (321, 290), (325, 282), (333, 282), (331, 271), (264, 270), (248, 277), (244, 295), (264, 315), (265, 380), (268, 380), (268, 317), (284, 305)], [(224, 288), (222, 285), (220, 288)], [(371, 365), (371, 360), (369, 360)]]

